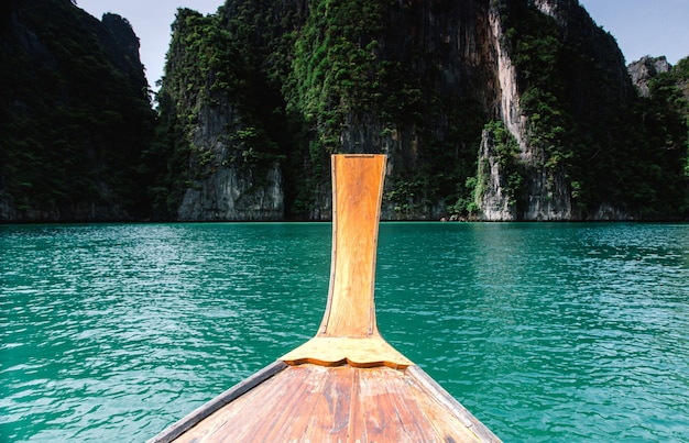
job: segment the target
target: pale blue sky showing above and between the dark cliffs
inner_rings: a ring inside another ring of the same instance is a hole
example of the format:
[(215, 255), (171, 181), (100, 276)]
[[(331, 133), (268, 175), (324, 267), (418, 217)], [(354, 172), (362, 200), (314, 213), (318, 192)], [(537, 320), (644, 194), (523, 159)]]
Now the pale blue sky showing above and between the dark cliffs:
[[(123, 16), (140, 40), (141, 62), (152, 89), (163, 76), (171, 24), (177, 8), (215, 13), (225, 0), (77, 0), (100, 19), (105, 12)], [(579, 0), (593, 21), (610, 32), (626, 63), (645, 55), (667, 56), (675, 65), (689, 56), (689, 0)]]

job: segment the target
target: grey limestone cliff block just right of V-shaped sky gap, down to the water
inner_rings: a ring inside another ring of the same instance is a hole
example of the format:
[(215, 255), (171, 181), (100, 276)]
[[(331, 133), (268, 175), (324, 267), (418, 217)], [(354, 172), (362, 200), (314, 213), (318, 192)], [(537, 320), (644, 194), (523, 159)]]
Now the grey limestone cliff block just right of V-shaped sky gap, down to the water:
[(177, 220), (283, 220), (283, 171), (270, 137), (280, 124), (255, 117), (270, 99), (253, 96), (270, 87), (252, 90), (255, 62), (236, 46), (237, 35), (220, 29), (222, 11), (203, 16), (179, 10), (173, 24), (158, 100), (163, 120), (184, 134), (171, 143), (183, 145), (185, 164), (184, 180), (173, 177), (177, 185), (162, 191), (174, 195), (176, 188), (169, 210)]

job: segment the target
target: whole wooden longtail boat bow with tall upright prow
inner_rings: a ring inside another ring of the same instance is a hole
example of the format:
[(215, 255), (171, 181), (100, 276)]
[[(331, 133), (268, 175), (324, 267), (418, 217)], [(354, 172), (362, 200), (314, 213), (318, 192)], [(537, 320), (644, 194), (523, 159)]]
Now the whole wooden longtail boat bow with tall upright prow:
[(500, 442), (381, 335), (374, 275), (386, 156), (339, 154), (316, 335), (172, 424), (158, 442)]

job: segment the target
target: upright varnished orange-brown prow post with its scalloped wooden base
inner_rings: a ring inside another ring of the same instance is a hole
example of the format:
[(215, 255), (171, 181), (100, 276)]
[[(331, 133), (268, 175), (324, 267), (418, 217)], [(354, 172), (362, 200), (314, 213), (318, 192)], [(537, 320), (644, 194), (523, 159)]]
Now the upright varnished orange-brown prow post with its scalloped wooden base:
[(332, 156), (332, 257), (328, 303), (314, 339), (281, 359), (405, 368), (412, 362), (381, 336), (373, 288), (384, 155)]

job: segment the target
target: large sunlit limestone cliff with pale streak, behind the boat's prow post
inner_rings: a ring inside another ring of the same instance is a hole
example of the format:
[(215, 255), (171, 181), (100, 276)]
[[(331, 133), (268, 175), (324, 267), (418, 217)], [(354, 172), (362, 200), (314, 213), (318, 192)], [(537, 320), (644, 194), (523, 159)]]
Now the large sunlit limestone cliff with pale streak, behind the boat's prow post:
[(389, 155), (391, 220), (683, 208), (683, 139), (663, 148), (613, 36), (576, 0), (230, 0), (173, 29), (182, 219), (327, 219), (333, 152)]

